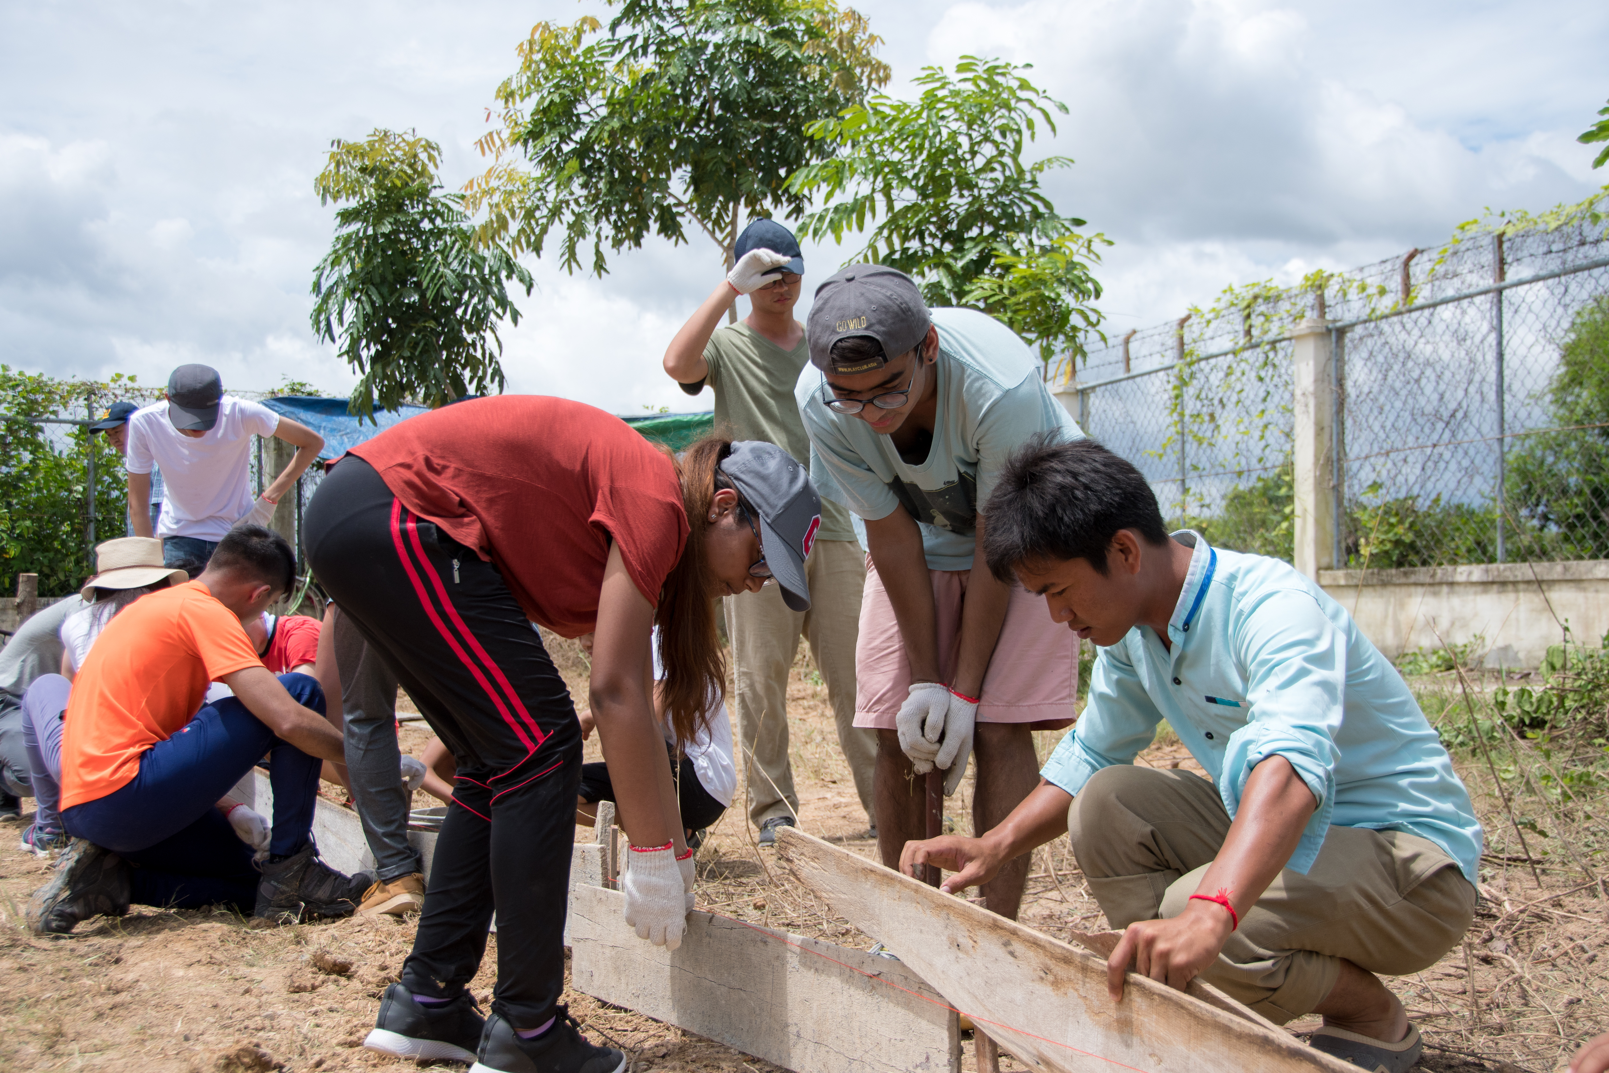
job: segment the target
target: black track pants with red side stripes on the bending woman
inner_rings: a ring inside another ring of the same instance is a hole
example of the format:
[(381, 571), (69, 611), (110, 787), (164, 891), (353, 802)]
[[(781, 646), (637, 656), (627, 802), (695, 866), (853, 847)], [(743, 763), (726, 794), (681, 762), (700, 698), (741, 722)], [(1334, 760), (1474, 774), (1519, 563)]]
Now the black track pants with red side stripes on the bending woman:
[(459, 763), (402, 985), (463, 991), (496, 912), (492, 1009), (537, 1028), (563, 989), (581, 782), (570, 690), (497, 568), (404, 508), (362, 458), (319, 486), (304, 539), (319, 584)]

